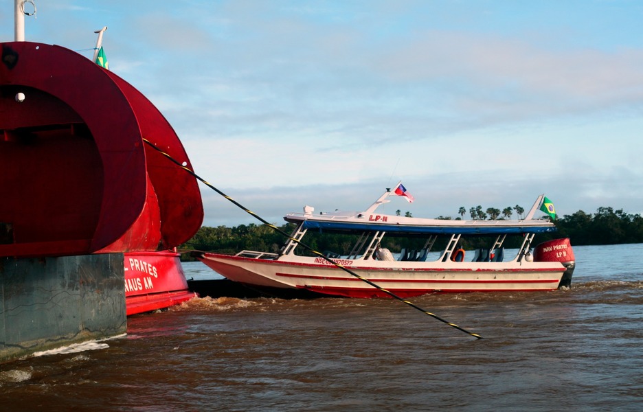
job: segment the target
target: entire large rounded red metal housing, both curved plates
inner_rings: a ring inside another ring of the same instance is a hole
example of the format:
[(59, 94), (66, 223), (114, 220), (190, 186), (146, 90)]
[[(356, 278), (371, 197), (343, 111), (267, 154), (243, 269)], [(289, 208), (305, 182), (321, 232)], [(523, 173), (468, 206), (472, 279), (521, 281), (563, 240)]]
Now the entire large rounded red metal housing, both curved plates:
[(170, 249), (201, 226), (176, 133), (137, 89), (76, 52), (1, 43), (0, 256)]

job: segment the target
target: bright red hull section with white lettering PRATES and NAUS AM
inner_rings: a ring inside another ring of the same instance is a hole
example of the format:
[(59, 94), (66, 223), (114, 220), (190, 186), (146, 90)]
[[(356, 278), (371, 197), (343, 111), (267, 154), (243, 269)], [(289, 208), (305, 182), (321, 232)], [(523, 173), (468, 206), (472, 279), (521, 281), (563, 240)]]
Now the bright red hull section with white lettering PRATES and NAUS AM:
[(126, 315), (169, 308), (196, 296), (190, 292), (179, 253), (124, 254)]

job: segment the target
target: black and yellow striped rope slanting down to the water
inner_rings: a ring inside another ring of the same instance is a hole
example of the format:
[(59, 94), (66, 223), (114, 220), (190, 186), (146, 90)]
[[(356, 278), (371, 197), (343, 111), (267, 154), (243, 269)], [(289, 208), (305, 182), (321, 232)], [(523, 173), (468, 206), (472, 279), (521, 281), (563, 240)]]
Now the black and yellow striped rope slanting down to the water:
[(420, 312), (428, 314), (433, 319), (437, 319), (438, 321), (440, 321), (442, 323), (446, 323), (447, 325), (451, 326), (452, 328), (455, 328), (455, 329), (460, 330), (460, 331), (462, 331), (462, 332), (464, 332), (466, 334), (469, 334), (469, 335), (475, 337), (476, 339), (482, 339), (482, 336), (480, 336), (479, 334), (469, 332), (468, 330), (466, 330), (464, 328), (460, 328), (460, 326), (456, 325), (455, 323), (451, 323), (451, 322), (447, 321), (446, 319), (442, 319), (437, 314), (431, 313), (431, 312), (429, 312), (427, 310), (424, 310), (424, 309), (420, 308), (419, 306), (417, 306), (416, 304), (412, 303), (411, 301), (403, 299), (402, 297), (399, 297), (395, 293), (392, 293), (390, 290), (386, 290), (385, 288), (383, 288), (383, 287), (381, 287), (381, 286), (379, 286), (377, 284), (374, 284), (373, 282), (371, 282), (370, 280), (366, 279), (365, 277), (362, 277), (362, 276), (358, 275), (357, 273), (354, 273), (353, 271), (351, 271), (346, 266), (343, 266), (343, 265), (333, 261), (332, 259), (327, 258), (324, 255), (324, 253), (320, 253), (320, 252), (316, 251), (315, 249), (313, 249), (312, 247), (308, 246), (307, 244), (302, 243), (300, 240), (297, 240), (297, 239), (293, 238), (288, 233), (282, 231), (282, 229), (279, 229), (278, 227), (276, 227), (275, 225), (271, 224), (267, 220), (264, 220), (264, 218), (262, 218), (261, 216), (259, 216), (255, 212), (251, 211), (250, 209), (247, 209), (247, 207), (244, 207), (243, 205), (241, 205), (240, 203), (235, 201), (233, 198), (231, 198), (227, 194), (221, 192), (221, 190), (218, 190), (216, 187), (214, 187), (214, 185), (212, 185), (211, 183), (205, 181), (205, 179), (202, 179), (201, 176), (199, 176), (198, 174), (196, 174), (192, 170), (190, 170), (190, 168), (188, 168), (188, 166), (187, 166), (187, 163), (179, 163), (179, 161), (177, 161), (176, 159), (174, 159), (173, 157), (168, 155), (168, 153), (163, 152), (163, 150), (161, 150), (160, 148), (157, 148), (157, 146), (155, 146), (155, 144), (150, 142), (148, 139), (144, 138), (143, 141), (146, 144), (148, 144), (151, 148), (153, 148), (153, 149), (157, 150), (157, 152), (161, 153), (161, 155), (163, 155), (163, 156), (167, 157), (168, 159), (170, 159), (170, 161), (172, 161), (172, 163), (175, 163), (176, 165), (178, 165), (180, 168), (182, 168), (183, 170), (185, 170), (186, 172), (188, 172), (189, 174), (194, 176), (194, 178), (196, 178), (197, 180), (201, 181), (203, 184), (207, 185), (207, 187), (210, 187), (210, 189), (214, 190), (214, 192), (217, 192), (218, 194), (220, 194), (221, 196), (226, 198), (228, 201), (232, 202), (235, 206), (237, 206), (240, 209), (242, 209), (243, 211), (245, 211), (247, 214), (250, 214), (251, 216), (253, 216), (257, 220), (262, 222), (264, 225), (267, 225), (268, 227), (271, 227), (273, 230), (275, 230), (278, 233), (282, 234), (283, 236), (285, 236), (289, 240), (292, 240), (293, 242), (296, 242), (297, 244), (299, 244), (304, 249), (306, 249), (306, 250), (310, 251), (311, 253), (319, 256), (319, 258), (322, 258), (322, 259), (328, 261), (330, 264), (333, 264), (333, 265), (337, 266), (337, 268), (340, 268), (341, 270), (345, 271), (346, 273), (349, 273), (350, 275), (352, 275), (354, 277), (357, 277), (357, 279), (360, 279), (361, 281), (363, 281), (363, 282), (365, 282), (367, 284), (370, 284), (370, 286), (373, 286), (374, 288), (376, 288), (378, 290), (381, 290), (383, 293), (386, 293), (387, 295), (390, 295), (390, 297), (393, 297), (394, 299), (398, 299), (398, 301), (401, 301), (401, 302), (407, 304), (408, 306), (411, 306), (411, 308), (417, 309)]

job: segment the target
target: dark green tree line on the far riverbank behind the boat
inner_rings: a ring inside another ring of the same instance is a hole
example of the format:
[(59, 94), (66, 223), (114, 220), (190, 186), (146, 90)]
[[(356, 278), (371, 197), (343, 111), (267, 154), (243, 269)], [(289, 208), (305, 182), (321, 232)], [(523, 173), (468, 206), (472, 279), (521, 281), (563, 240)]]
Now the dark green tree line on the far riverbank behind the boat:
[[(455, 218), (460, 220), (462, 216)], [(508, 210), (508, 209), (511, 209)], [(500, 211), (495, 208), (488, 208), (482, 211), (482, 207), (472, 207), (469, 212), (475, 220), (505, 220), (511, 217), (512, 211), (521, 218), (524, 209), (519, 206), (505, 208)], [(401, 211), (397, 211), (400, 214)], [(466, 214), (466, 209), (464, 211)], [(407, 212), (405, 216), (410, 216)], [(475, 217), (474, 217), (475, 216)], [(438, 218), (444, 218), (442, 216)], [(548, 218), (548, 217), (547, 217)], [(621, 243), (643, 243), (643, 218), (640, 214), (627, 214), (622, 209), (614, 210), (612, 207), (599, 207), (594, 214), (587, 214), (579, 210), (572, 215), (564, 215), (562, 218), (556, 218), (556, 228), (554, 233), (541, 233), (535, 238), (536, 242), (544, 242), (554, 238), (569, 238), (573, 246), (587, 244), (621, 244)], [(286, 233), (291, 233), (295, 229), (295, 224), (285, 223), (280, 229)], [(350, 253), (354, 242), (357, 240), (356, 235), (344, 233), (317, 233), (309, 231), (304, 241), (308, 246), (316, 251), (332, 251), (341, 255)], [(286, 239), (282, 234), (273, 230), (267, 225), (239, 225), (236, 227), (201, 227), (199, 231), (185, 244), (181, 249), (199, 250), (199, 251), (217, 251), (221, 253), (237, 253), (242, 250), (266, 251), (277, 253), (284, 244)], [(420, 249), (424, 239), (405, 239), (387, 236), (384, 238), (383, 247), (387, 247), (393, 253), (399, 252), (403, 247), (411, 249)], [(506, 247), (519, 247), (519, 239), (507, 239)], [(447, 239), (436, 242), (435, 248), (443, 247)], [(477, 247), (488, 247), (488, 238), (467, 238), (462, 242), (465, 249), (475, 249)], [(516, 243), (516, 244), (514, 244)], [(300, 252), (301, 253), (301, 252)]]

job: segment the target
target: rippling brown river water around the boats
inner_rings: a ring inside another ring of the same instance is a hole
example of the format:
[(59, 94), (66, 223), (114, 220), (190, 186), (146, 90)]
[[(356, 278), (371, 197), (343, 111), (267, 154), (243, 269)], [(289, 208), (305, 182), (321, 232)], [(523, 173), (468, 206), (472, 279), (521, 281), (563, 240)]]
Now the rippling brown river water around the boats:
[(0, 365), (0, 411), (643, 410), (643, 244), (574, 252), (571, 290), (410, 299), (483, 339), (393, 299), (197, 298)]

